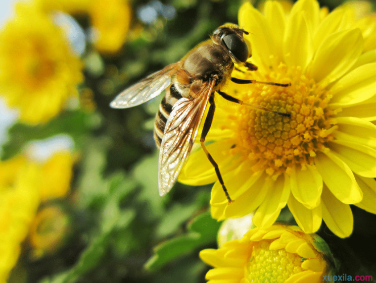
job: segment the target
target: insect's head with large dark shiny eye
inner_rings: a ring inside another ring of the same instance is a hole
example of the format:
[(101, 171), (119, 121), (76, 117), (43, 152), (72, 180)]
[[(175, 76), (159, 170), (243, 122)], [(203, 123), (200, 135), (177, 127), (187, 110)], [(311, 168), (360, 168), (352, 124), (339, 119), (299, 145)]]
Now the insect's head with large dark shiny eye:
[(228, 50), (236, 63), (244, 63), (252, 53), (251, 45), (243, 38), (243, 34), (249, 33), (236, 25), (223, 25), (214, 31), (212, 39)]

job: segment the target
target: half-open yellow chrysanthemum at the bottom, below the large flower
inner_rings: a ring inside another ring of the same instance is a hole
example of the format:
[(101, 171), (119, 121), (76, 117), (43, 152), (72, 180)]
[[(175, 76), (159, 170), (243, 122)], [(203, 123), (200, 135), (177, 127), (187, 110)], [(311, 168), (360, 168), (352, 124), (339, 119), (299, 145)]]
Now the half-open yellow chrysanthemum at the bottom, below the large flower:
[(214, 267), (206, 274), (208, 283), (319, 283), (333, 267), (319, 236), (284, 225), (249, 230), (200, 257)]

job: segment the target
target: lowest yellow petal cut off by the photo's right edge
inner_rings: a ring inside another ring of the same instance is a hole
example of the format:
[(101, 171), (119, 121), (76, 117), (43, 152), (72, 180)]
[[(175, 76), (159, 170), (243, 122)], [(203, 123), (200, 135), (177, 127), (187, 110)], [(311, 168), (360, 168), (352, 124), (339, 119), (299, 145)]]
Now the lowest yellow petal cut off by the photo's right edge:
[(376, 181), (373, 178), (364, 178), (355, 175), (360, 188), (363, 191), (363, 199), (355, 205), (368, 212), (376, 214)]

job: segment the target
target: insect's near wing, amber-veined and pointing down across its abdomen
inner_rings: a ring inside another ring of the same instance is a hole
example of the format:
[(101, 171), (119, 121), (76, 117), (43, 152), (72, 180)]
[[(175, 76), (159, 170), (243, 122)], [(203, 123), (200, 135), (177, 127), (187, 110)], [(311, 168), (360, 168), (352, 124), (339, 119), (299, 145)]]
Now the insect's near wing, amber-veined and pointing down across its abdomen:
[(167, 120), (159, 150), (159, 195), (167, 194), (186, 164), (215, 81), (205, 84), (194, 99), (181, 98)]

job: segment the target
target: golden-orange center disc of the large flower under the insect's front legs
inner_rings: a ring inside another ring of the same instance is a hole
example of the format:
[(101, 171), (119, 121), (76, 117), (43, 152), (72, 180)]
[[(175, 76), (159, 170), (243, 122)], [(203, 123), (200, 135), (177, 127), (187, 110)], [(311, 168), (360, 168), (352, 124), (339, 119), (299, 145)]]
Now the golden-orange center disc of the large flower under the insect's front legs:
[(291, 117), (241, 106), (233, 124), (233, 153), (240, 152), (252, 161), (252, 170), (266, 170), (270, 175), (289, 173), (294, 164), (312, 164), (316, 152), (325, 150), (336, 127), (327, 91), (302, 74), (300, 67), (286, 69), (281, 64), (279, 70), (282, 74), (277, 76), (278, 82), (290, 81), (291, 86), (250, 84), (239, 94), (249, 104), (290, 113)]

